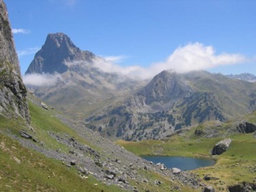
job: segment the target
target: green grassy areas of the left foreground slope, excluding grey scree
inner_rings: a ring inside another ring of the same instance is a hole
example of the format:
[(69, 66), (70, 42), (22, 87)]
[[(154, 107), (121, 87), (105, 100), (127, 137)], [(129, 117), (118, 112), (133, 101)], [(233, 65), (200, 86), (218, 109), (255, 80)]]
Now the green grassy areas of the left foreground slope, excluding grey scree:
[[(68, 150), (66, 146), (52, 139), (46, 131), (68, 133), (81, 140), (75, 131), (57, 118), (44, 113), (44, 110), (33, 103), (29, 103), (29, 108), (36, 136), (44, 141), (46, 148)], [(18, 135), (20, 129), (26, 129), (23, 121), (8, 120), (0, 116), (1, 191), (120, 191), (115, 186), (106, 186), (98, 182), (92, 176), (88, 179), (80, 178), (74, 168), (70, 169), (62, 165), (61, 161), (25, 148), (6, 134), (8, 130)], [(83, 142), (85, 143), (84, 140)], [(95, 186), (95, 183), (98, 185)]]

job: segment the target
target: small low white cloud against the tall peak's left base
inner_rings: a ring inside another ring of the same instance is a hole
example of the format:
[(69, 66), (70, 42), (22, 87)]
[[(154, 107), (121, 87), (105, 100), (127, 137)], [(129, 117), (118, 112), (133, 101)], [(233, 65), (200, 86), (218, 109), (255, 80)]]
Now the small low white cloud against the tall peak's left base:
[(27, 74), (23, 76), (23, 82), (27, 86), (52, 86), (55, 85), (60, 74)]

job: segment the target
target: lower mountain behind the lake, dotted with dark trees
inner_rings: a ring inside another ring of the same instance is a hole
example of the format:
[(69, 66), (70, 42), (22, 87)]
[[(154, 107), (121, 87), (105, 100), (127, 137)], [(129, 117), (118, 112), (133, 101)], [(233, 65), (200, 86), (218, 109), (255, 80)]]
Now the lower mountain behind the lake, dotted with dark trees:
[(256, 84), (221, 74), (162, 71), (122, 105), (87, 123), (113, 138), (161, 139), (182, 127), (247, 114), (256, 109), (255, 92)]

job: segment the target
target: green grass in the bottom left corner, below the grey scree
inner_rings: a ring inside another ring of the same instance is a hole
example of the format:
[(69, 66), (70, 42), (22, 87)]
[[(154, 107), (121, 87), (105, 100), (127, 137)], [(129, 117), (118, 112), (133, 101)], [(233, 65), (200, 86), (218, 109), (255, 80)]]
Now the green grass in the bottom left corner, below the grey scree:
[(0, 140), (1, 191), (120, 191), (91, 176), (83, 179), (74, 168), (24, 148), (2, 133)]

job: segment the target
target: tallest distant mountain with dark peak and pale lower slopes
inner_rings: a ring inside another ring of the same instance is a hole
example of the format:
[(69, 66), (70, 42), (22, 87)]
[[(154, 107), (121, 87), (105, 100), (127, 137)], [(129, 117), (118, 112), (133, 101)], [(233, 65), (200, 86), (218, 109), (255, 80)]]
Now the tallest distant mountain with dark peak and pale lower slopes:
[(103, 58), (80, 50), (67, 35), (49, 34), (26, 75), (55, 75), (57, 72), (57, 82), (51, 86), (27, 86), (46, 103), (72, 118), (83, 120), (95, 112), (104, 113), (104, 108), (145, 85), (143, 81), (100, 70), (94, 66), (99, 60), (104, 65)]

